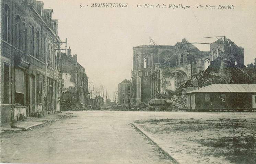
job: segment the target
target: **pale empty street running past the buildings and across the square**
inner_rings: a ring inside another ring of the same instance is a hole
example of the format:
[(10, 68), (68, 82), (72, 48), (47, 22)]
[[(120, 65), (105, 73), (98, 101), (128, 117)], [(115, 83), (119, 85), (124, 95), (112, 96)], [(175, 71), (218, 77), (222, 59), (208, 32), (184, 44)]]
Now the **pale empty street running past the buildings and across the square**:
[[(68, 113), (68, 112), (66, 112)], [(164, 118), (255, 118), (254, 112), (75, 111), (77, 117), (1, 134), (2, 163), (172, 163), (130, 123)]]

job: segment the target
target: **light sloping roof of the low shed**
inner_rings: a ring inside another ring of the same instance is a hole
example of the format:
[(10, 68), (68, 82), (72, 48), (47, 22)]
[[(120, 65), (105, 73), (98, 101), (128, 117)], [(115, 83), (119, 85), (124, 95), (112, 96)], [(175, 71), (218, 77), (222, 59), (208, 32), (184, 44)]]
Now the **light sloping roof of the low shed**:
[(211, 84), (185, 94), (194, 92), (256, 93), (256, 84)]

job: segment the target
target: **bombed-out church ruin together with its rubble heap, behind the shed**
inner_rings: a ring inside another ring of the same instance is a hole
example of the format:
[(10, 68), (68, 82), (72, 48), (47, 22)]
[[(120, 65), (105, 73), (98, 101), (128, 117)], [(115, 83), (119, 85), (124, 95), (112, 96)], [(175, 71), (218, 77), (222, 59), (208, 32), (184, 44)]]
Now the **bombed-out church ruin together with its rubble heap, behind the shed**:
[[(133, 47), (132, 103), (175, 95), (172, 100), (176, 108), (188, 109), (184, 91), (210, 84), (255, 84), (255, 75), (248, 70), (244, 66), (244, 48), (226, 37), (211, 43), (208, 52), (198, 50), (185, 38), (174, 46)], [(252, 109), (252, 105), (248, 108)]]

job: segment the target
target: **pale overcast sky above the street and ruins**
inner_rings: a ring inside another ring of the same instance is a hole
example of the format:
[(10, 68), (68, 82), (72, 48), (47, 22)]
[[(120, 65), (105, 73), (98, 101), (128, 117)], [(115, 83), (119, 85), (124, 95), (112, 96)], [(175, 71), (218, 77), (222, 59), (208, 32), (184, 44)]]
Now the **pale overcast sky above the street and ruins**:
[[(244, 47), (245, 65), (254, 62), (256, 39), (256, 1), (254, 0), (43, 0), (45, 9), (53, 9), (58, 19), (58, 35), (67, 38), (71, 54), (78, 55), (89, 81), (103, 83), (113, 92), (124, 79), (131, 79), (132, 47), (148, 45), (149, 36), (159, 45), (174, 45), (186, 38), (189, 42), (212, 43), (226, 36)], [(93, 3), (127, 3), (127, 8), (90, 7)], [(142, 8), (136, 8), (137, 3)], [(143, 8), (144, 4), (155, 5)], [(83, 5), (80, 8), (80, 5)], [(161, 4), (161, 8), (156, 8)], [(162, 8), (162, 4), (166, 8)], [(169, 4), (190, 5), (190, 9), (170, 9)], [(196, 5), (233, 5), (234, 9), (197, 9)], [(88, 6), (87, 6), (88, 5)], [(133, 5), (133, 7), (131, 6)], [(193, 8), (194, 6), (194, 8)], [(201, 51), (210, 46), (194, 44)], [(63, 45), (63, 47), (65, 47)]]

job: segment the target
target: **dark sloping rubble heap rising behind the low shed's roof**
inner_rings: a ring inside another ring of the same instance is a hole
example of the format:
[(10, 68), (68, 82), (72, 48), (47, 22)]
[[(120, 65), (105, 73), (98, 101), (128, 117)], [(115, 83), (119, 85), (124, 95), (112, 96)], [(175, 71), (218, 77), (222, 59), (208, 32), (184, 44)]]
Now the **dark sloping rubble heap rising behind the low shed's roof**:
[[(250, 73), (247, 73), (250, 72)], [(205, 71), (194, 74), (177, 89), (203, 87), (211, 84), (255, 84), (255, 68), (240, 68), (234, 65), (232, 57), (217, 57)]]

